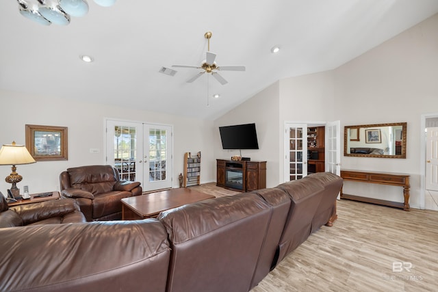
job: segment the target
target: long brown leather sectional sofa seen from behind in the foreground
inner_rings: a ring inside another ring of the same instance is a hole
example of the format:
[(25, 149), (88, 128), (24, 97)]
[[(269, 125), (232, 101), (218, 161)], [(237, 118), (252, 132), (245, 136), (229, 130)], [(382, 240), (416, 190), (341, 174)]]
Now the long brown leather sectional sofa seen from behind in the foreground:
[(0, 228), (0, 291), (249, 291), (333, 223), (341, 186), (318, 173), (157, 219)]

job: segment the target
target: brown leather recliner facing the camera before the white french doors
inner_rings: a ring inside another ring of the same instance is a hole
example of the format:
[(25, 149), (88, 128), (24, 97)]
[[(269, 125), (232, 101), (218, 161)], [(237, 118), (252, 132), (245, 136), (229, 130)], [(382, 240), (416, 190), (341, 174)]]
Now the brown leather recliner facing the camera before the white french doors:
[(120, 181), (111, 165), (68, 168), (60, 174), (62, 198), (75, 198), (87, 221), (122, 219), (122, 198), (139, 196), (139, 182)]

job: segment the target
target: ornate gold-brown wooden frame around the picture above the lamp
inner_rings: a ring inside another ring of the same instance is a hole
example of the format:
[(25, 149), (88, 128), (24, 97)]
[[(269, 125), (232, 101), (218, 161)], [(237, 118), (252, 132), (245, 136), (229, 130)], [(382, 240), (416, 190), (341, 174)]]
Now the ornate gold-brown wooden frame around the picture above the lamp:
[[(36, 132), (53, 133), (53, 135), (59, 135), (60, 139), (60, 152), (40, 154), (36, 150)], [(30, 155), (34, 157), (36, 161), (53, 161), (53, 160), (68, 160), (67, 150), (67, 127), (55, 127), (55, 126), (39, 126), (36, 124), (26, 124), (26, 148), (29, 150)]]

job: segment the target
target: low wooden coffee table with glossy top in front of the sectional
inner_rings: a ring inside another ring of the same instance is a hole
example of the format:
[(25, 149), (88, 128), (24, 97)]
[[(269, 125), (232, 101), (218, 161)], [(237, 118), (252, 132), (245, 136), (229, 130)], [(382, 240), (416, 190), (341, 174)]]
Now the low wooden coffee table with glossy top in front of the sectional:
[(122, 220), (157, 217), (168, 209), (216, 198), (194, 189), (179, 188), (122, 199)]

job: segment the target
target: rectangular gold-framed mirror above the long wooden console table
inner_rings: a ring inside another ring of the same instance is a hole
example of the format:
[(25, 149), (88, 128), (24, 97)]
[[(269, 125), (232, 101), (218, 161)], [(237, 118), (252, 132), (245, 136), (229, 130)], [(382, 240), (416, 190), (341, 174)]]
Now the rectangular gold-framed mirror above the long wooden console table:
[(407, 122), (344, 127), (344, 156), (406, 158)]

